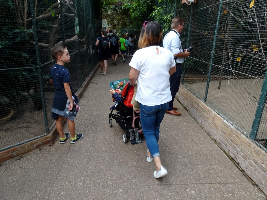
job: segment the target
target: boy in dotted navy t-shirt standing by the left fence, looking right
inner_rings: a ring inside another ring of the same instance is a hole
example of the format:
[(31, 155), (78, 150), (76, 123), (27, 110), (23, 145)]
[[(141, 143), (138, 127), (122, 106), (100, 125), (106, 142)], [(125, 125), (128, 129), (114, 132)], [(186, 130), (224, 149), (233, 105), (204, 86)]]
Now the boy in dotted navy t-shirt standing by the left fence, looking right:
[[(74, 118), (80, 107), (78, 106), (79, 99), (74, 94), (70, 84), (69, 71), (64, 67), (65, 63), (70, 62), (69, 51), (66, 46), (56, 45), (51, 49), (53, 58), (57, 61), (50, 68), (50, 83), (56, 89), (51, 117), (56, 120), (56, 129), (60, 135), (60, 143), (64, 144), (70, 137), (71, 143), (76, 143), (83, 138), (83, 134), (75, 134)], [(66, 117), (68, 120), (69, 133), (63, 132), (62, 120)]]

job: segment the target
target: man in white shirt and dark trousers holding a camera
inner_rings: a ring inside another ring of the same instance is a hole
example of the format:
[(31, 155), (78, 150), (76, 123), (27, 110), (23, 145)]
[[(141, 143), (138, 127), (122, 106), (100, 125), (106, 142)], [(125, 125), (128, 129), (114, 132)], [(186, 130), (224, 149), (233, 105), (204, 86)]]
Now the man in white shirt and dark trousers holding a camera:
[(180, 17), (172, 19), (171, 28), (172, 30), (170, 33), (167, 33), (163, 39), (163, 47), (170, 50), (176, 58), (176, 72), (170, 76), (172, 100), (169, 102), (169, 108), (166, 113), (171, 115), (181, 115), (181, 113), (175, 111), (177, 108), (173, 107), (173, 101), (180, 86), (181, 64), (183, 63), (184, 57), (188, 57), (190, 53), (187, 49), (183, 51), (180, 41), (180, 34), (183, 32), (184, 28), (183, 19)]

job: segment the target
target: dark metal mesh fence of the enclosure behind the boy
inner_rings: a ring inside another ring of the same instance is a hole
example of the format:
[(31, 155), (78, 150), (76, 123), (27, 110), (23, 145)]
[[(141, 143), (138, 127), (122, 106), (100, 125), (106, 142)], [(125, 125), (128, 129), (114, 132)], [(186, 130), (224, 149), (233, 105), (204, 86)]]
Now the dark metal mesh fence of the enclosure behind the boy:
[(102, 19), (93, 0), (0, 0), (0, 151), (49, 133), (54, 88), (50, 49), (64, 44), (77, 91), (97, 63)]

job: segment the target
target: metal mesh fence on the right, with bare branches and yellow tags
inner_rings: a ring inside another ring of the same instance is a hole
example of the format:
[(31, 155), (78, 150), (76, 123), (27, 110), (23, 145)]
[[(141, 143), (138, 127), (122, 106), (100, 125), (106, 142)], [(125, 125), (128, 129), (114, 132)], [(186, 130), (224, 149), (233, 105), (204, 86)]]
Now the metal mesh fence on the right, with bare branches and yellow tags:
[(176, 1), (182, 17), (181, 83), (266, 150), (266, 2)]

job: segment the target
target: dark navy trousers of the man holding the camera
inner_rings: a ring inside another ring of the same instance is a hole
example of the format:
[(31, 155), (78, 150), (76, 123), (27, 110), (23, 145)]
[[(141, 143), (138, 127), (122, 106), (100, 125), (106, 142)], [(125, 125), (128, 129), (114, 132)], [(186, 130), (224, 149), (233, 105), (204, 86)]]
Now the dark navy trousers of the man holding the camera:
[(170, 85), (171, 85), (171, 101), (169, 102), (169, 109), (173, 110), (173, 101), (175, 98), (176, 93), (180, 87), (180, 80), (181, 80), (181, 63), (176, 62), (176, 71), (174, 74), (170, 75)]

